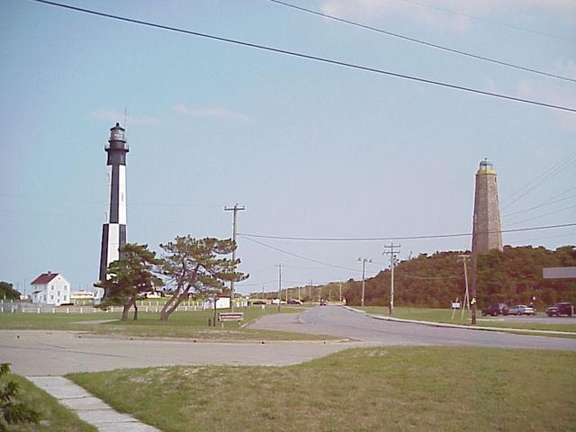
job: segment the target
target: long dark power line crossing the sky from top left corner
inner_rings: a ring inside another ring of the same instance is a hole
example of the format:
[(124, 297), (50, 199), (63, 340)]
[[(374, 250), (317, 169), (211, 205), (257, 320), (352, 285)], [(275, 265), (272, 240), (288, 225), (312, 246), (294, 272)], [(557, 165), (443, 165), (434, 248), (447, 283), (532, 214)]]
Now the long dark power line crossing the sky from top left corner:
[(309, 54), (302, 54), (300, 52), (296, 52), (296, 51), (290, 51), (287, 49), (279, 49), (279, 48), (273, 48), (273, 47), (268, 47), (266, 45), (260, 45), (257, 43), (251, 43), (251, 42), (246, 42), (243, 40), (235, 40), (235, 39), (229, 39), (229, 38), (223, 38), (220, 36), (215, 36), (212, 34), (208, 34), (208, 33), (202, 33), (199, 31), (190, 31), (190, 30), (184, 30), (184, 29), (179, 29), (176, 27), (171, 27), (171, 26), (167, 26), (167, 25), (162, 25), (162, 24), (157, 24), (157, 23), (149, 23), (146, 21), (140, 21), (140, 20), (135, 20), (133, 18), (127, 18), (124, 16), (120, 16), (120, 15), (113, 15), (113, 14), (104, 14), (102, 12), (96, 12), (90, 9), (84, 9), (81, 7), (76, 7), (76, 6), (70, 6), (67, 4), (59, 4), (56, 2), (49, 2), (48, 0), (33, 0), (34, 2), (37, 3), (41, 3), (41, 4), (50, 4), (53, 6), (57, 6), (57, 7), (62, 7), (65, 9), (70, 9), (76, 12), (82, 12), (85, 14), (93, 14), (96, 16), (102, 16), (104, 18), (110, 18), (112, 20), (117, 20), (117, 21), (122, 21), (125, 23), (134, 23), (134, 24), (139, 24), (139, 25), (145, 25), (148, 27), (154, 27), (157, 29), (161, 29), (161, 30), (167, 30), (167, 31), (175, 31), (175, 32), (179, 32), (179, 33), (184, 33), (184, 34), (188, 34), (191, 36), (197, 36), (197, 37), (201, 37), (201, 38), (206, 38), (206, 39), (211, 39), (211, 40), (219, 40), (221, 42), (228, 42), (228, 43), (232, 43), (235, 45), (240, 45), (240, 46), (244, 46), (244, 47), (248, 47), (248, 48), (254, 48), (254, 49), (263, 49), (266, 51), (271, 51), (271, 52), (275, 52), (277, 54), (284, 54), (286, 56), (292, 56), (292, 57), (297, 57), (297, 58), (306, 58), (309, 60), (314, 60), (314, 61), (319, 61), (321, 63), (327, 63), (327, 64), (331, 64), (331, 65), (336, 65), (336, 66), (341, 66), (341, 67), (349, 67), (349, 68), (353, 68), (353, 69), (357, 69), (357, 70), (363, 70), (365, 72), (373, 72), (375, 74), (380, 74), (380, 75), (385, 75), (385, 76), (395, 76), (397, 78), (403, 78), (403, 79), (407, 79), (410, 81), (416, 81), (419, 83), (424, 83), (424, 84), (429, 84), (429, 85), (437, 85), (437, 86), (441, 86), (441, 87), (446, 87), (446, 88), (451, 88), (453, 90), (459, 90), (459, 91), (463, 91), (463, 92), (467, 92), (467, 93), (473, 93), (473, 94), (482, 94), (484, 96), (491, 96), (491, 97), (496, 97), (499, 99), (505, 99), (505, 100), (509, 100), (509, 101), (514, 101), (514, 102), (520, 102), (520, 103), (528, 103), (528, 104), (532, 104), (532, 105), (537, 105), (537, 106), (543, 106), (546, 108), (552, 108), (555, 110), (560, 110), (560, 111), (566, 111), (566, 112), (576, 112), (576, 108), (571, 108), (571, 107), (567, 107), (567, 106), (562, 106), (562, 105), (555, 105), (552, 103), (544, 103), (544, 102), (538, 102), (535, 100), (531, 100), (531, 99), (524, 99), (521, 97), (515, 97), (515, 96), (510, 96), (508, 94), (500, 94), (500, 93), (493, 93), (493, 92), (487, 92), (484, 90), (479, 90), (473, 87), (466, 87), (464, 85), (455, 85), (455, 84), (449, 84), (449, 83), (445, 83), (442, 81), (435, 81), (432, 79), (427, 79), (427, 78), (422, 78), (419, 76), (410, 76), (410, 75), (404, 75), (404, 74), (399, 74), (396, 72), (391, 72), (388, 70), (384, 70), (384, 69), (379, 69), (376, 67), (365, 67), (365, 66), (361, 66), (361, 65), (356, 65), (354, 63), (347, 63), (345, 61), (339, 61), (339, 60), (334, 60), (331, 58), (323, 58), (323, 57), (318, 57), (318, 56), (312, 56)]

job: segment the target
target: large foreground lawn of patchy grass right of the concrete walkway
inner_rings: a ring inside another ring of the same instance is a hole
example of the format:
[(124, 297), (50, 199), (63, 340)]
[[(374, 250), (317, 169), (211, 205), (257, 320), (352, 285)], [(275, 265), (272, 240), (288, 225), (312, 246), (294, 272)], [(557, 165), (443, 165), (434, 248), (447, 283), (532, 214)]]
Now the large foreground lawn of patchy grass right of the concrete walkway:
[(565, 431), (576, 354), (378, 347), (303, 365), (177, 366), (68, 375), (117, 410), (175, 431)]

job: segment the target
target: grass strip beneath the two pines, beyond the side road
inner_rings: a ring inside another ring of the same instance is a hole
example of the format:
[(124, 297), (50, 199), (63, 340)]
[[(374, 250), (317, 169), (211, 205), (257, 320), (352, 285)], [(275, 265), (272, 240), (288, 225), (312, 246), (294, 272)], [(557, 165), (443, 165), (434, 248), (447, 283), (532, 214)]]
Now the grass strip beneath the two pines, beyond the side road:
[[(257, 320), (264, 314), (278, 313), (274, 307), (250, 307), (238, 311), (244, 312), (244, 324)], [(284, 307), (282, 313), (296, 313), (301, 308)], [(146, 338), (194, 338), (211, 340), (319, 340), (333, 339), (300, 333), (284, 333), (278, 331), (239, 328), (236, 322), (226, 322), (222, 329), (208, 327), (208, 319), (213, 317), (213, 311), (174, 312), (169, 320), (159, 320), (159, 313), (140, 312), (139, 319), (121, 322), (120, 312), (96, 312), (84, 314), (66, 313), (1, 313), (0, 329), (42, 329), (42, 330), (76, 330), (89, 331), (99, 335)], [(94, 320), (114, 320), (100, 324), (91, 324)]]

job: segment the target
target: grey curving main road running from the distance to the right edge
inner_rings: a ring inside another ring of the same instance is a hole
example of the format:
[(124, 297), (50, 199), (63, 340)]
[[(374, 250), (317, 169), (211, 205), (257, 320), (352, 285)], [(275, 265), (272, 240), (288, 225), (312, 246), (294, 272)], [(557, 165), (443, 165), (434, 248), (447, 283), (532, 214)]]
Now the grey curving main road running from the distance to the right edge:
[(267, 315), (250, 327), (354, 338), (374, 345), (456, 345), (576, 351), (576, 339), (436, 328), (406, 322), (375, 320), (341, 306), (316, 307), (300, 315)]

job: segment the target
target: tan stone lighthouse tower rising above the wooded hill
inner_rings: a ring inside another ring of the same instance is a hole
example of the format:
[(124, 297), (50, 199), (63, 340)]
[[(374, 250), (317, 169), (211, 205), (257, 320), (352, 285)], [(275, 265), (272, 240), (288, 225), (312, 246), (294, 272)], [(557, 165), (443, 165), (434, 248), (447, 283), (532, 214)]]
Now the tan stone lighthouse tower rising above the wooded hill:
[(476, 172), (472, 251), (486, 254), (491, 249), (502, 250), (500, 204), (496, 171), (491, 161), (484, 159)]

